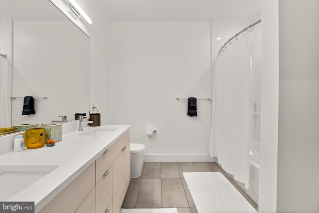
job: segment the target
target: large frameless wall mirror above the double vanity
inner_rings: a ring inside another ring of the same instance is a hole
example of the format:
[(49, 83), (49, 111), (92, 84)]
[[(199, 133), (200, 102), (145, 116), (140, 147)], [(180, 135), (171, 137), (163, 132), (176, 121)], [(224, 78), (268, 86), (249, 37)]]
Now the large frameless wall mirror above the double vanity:
[[(0, 128), (89, 114), (90, 38), (54, 4), (0, 0), (0, 35)], [(22, 115), (25, 96), (35, 114)]]

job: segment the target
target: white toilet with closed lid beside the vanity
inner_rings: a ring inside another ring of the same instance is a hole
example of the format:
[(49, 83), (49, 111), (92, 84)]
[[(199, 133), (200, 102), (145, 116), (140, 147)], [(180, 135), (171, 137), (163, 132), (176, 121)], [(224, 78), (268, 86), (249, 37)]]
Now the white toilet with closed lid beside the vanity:
[(131, 178), (142, 175), (143, 162), (145, 156), (144, 144), (131, 144)]

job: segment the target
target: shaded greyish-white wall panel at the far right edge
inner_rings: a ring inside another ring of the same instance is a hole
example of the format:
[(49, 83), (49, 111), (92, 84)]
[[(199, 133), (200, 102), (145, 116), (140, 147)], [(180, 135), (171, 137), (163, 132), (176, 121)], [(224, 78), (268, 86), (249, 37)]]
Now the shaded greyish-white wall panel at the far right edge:
[(319, 1), (279, 1), (278, 213), (319, 212)]

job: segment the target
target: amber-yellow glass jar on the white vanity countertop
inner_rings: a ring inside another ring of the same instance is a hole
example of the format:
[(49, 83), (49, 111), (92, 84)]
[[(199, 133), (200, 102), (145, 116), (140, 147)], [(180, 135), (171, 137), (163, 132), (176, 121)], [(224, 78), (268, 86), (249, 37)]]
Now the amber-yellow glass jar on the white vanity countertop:
[(44, 147), (45, 128), (31, 128), (25, 130), (26, 148), (36, 149)]

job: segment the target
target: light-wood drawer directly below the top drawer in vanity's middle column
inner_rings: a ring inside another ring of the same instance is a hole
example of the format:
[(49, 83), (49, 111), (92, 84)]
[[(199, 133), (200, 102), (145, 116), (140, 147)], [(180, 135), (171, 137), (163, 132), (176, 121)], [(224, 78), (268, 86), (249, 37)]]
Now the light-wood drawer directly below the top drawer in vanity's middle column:
[(112, 200), (112, 166), (104, 172), (105, 175), (96, 184), (96, 213), (105, 213)]

